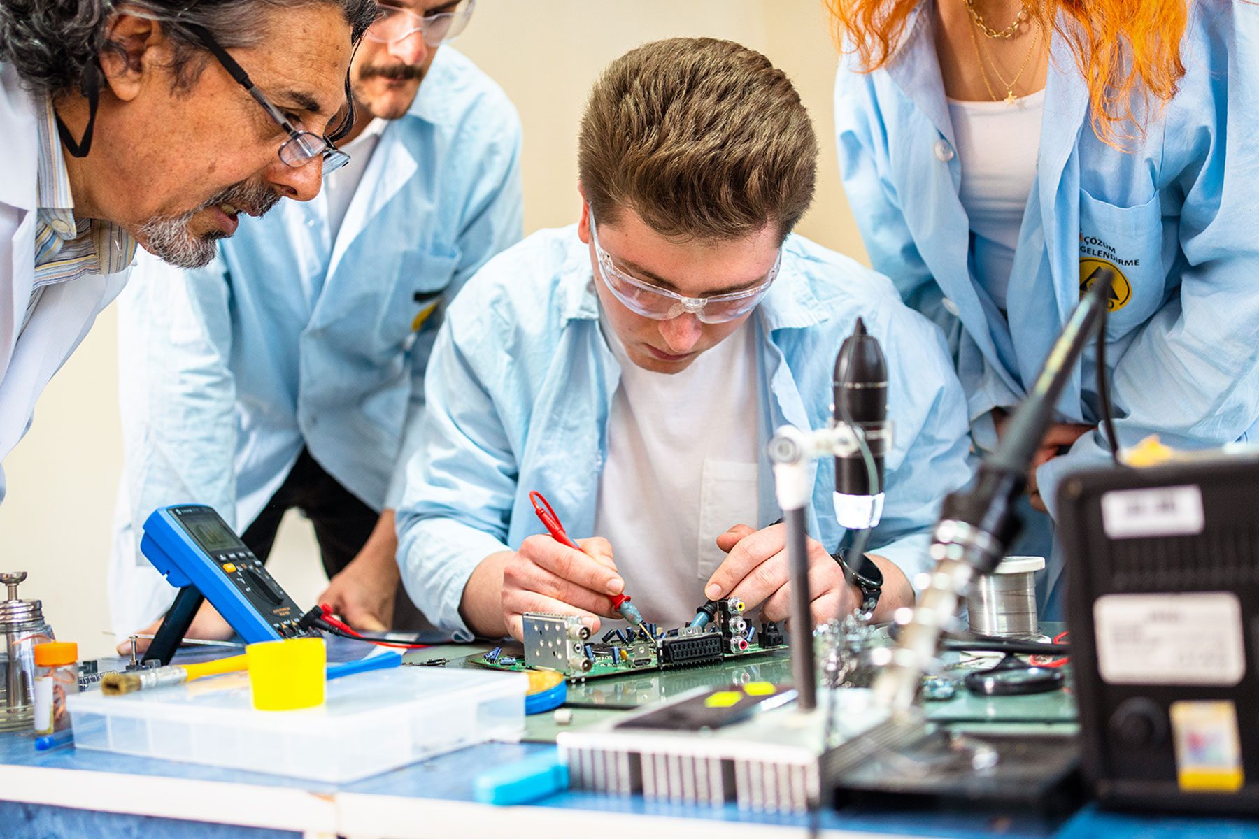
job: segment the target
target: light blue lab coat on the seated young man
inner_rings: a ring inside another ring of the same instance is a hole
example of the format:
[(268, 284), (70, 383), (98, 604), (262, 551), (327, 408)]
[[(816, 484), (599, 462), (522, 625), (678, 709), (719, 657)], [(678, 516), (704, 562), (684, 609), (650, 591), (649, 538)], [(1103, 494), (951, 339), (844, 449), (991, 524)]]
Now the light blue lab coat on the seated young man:
[[(446, 629), (466, 631), (458, 608), (477, 564), (543, 532), (531, 489), (564, 511), (574, 538), (592, 535), (621, 377), (593, 283), (577, 228), (543, 230), (492, 259), (438, 335), (423, 443), (398, 508), (398, 560), (412, 599)], [(928, 531), (940, 498), (971, 474), (969, 442), (964, 397), (940, 336), (886, 278), (801, 236), (787, 239), (778, 279), (753, 317), (760, 400), (748, 421), (762, 443), (784, 423), (822, 428), (835, 353), (857, 316), (888, 357), (895, 435), (871, 547), (913, 579), (929, 565)], [(830, 550), (845, 535), (833, 488), (835, 469), (818, 462), (810, 532)], [(762, 527), (782, 514), (764, 454), (758, 507)], [(695, 595), (703, 600), (699, 585)]]

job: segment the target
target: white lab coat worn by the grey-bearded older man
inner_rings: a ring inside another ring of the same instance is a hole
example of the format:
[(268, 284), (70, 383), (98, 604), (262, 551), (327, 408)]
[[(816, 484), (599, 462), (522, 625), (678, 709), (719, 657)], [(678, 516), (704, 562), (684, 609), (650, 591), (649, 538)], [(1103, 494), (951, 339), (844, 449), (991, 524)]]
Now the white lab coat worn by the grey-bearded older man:
[[(44, 385), (97, 313), (122, 291), (130, 270), (48, 286), (23, 328), (35, 279), (38, 107), (16, 70), (0, 64), (0, 137), (6, 152), (0, 176), (0, 460), (26, 433)], [(4, 493), (0, 470), (0, 499)]]

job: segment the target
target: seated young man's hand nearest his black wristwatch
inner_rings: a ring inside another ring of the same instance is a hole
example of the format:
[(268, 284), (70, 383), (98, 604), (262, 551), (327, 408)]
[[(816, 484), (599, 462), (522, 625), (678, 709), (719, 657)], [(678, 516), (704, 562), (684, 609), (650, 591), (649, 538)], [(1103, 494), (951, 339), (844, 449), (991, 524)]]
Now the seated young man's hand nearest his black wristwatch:
[[(704, 596), (710, 600), (737, 596), (748, 609), (760, 606), (765, 620), (781, 621), (791, 616), (791, 570), (787, 564), (787, 528), (772, 525), (754, 531), (735, 525), (718, 536), (716, 543), (726, 552), (725, 560), (709, 577)], [(812, 596), (813, 620), (825, 623), (852, 611), (860, 603), (855, 586), (844, 579), (844, 571), (822, 546), (808, 540), (808, 589)]]

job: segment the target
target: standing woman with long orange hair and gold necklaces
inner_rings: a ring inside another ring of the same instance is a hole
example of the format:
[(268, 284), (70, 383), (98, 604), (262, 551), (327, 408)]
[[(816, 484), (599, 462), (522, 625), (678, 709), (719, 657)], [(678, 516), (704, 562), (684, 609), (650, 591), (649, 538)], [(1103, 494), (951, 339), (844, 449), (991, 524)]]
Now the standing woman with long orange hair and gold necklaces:
[[(1119, 444), (1259, 438), (1259, 5), (828, 6), (852, 210), (874, 267), (951, 337), (974, 442), (996, 442), (1103, 267)], [(1037, 509), (1109, 457), (1097, 361), (1089, 347), (1029, 474)]]

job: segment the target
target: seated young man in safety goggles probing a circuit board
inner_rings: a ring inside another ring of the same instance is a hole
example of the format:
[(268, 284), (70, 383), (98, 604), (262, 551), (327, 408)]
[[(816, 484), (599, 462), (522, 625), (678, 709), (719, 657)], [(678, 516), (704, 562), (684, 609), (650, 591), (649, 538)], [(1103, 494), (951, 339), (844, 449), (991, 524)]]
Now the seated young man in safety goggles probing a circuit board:
[[(817, 143), (787, 77), (711, 39), (643, 45), (594, 87), (582, 215), (470, 281), (428, 367), (398, 509), (410, 596), (456, 631), (521, 635), (528, 611), (599, 628), (632, 594), (663, 626), (705, 599), (788, 614), (784, 533), (764, 447), (830, 416), (831, 372), (861, 317), (888, 357), (886, 501), (870, 545), (875, 619), (912, 603), (939, 499), (964, 483), (967, 418), (938, 332), (891, 283), (789, 235)], [(810, 511), (813, 618), (860, 600), (833, 469)], [(549, 498), (580, 550), (543, 532)]]

